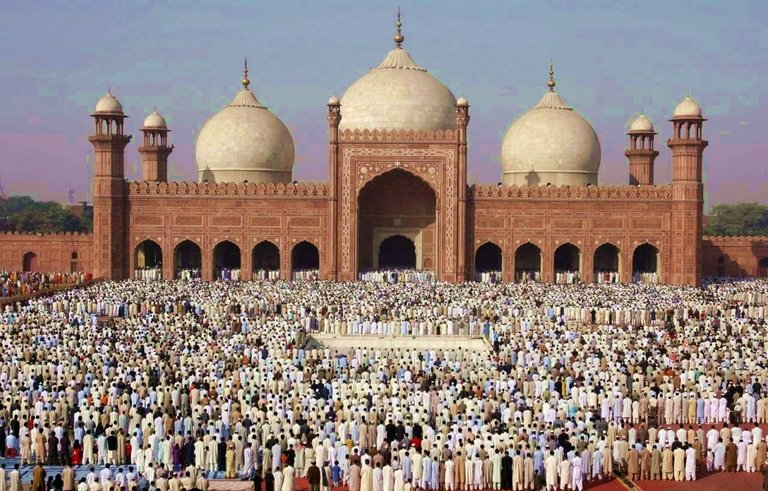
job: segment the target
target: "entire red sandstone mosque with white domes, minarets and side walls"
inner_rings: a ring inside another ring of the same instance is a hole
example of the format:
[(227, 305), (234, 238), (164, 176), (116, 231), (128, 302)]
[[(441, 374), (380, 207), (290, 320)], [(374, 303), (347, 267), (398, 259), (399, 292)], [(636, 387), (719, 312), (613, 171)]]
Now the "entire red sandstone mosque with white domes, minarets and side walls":
[[(461, 282), (654, 281), (768, 275), (768, 242), (703, 237), (702, 108), (690, 96), (670, 118), (672, 181), (656, 183), (656, 131), (645, 115), (627, 131), (628, 179), (598, 182), (600, 141), (556, 90), (514, 119), (500, 142), (501, 182), (467, 183), (470, 103), (395, 46), (341, 99), (327, 103), (328, 180), (293, 180), (294, 142), (250, 88), (195, 142), (198, 182), (169, 182), (170, 129), (154, 111), (128, 181), (128, 117), (108, 93), (91, 115), (93, 233), (0, 236), (3, 269), (82, 270), (123, 279), (350, 281), (371, 270), (431, 271)], [(510, 119), (514, 115), (510, 115)]]

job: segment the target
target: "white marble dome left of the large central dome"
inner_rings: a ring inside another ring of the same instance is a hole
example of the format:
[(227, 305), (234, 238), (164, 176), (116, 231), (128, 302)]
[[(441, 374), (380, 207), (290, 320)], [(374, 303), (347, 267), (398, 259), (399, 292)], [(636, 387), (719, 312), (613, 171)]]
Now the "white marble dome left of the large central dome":
[(243, 88), (200, 129), (195, 142), (199, 180), (283, 182), (293, 180), (295, 149), (288, 128)]

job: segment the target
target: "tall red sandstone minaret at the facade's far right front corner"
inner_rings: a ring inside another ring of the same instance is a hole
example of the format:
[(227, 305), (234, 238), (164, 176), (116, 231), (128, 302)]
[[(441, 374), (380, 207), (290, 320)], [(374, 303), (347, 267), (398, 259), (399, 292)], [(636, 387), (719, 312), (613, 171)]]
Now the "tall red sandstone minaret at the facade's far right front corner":
[(691, 96), (672, 116), (672, 264), (671, 282), (698, 285), (701, 281), (701, 232), (704, 217), (702, 138), (704, 117)]

